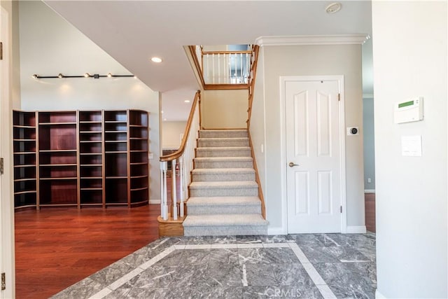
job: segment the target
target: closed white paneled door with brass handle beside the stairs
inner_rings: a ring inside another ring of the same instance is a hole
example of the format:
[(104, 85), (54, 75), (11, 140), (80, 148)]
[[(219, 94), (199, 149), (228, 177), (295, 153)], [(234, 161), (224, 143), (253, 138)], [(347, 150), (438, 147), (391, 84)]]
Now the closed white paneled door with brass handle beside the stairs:
[(339, 81), (285, 81), (288, 233), (341, 232)]

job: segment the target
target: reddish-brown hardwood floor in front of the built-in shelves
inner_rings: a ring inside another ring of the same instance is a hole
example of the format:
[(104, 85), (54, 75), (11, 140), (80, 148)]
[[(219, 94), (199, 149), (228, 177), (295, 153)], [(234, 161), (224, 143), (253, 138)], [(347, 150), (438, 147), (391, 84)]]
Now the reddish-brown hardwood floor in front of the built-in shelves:
[(158, 238), (160, 205), (15, 213), (16, 298), (48, 298)]

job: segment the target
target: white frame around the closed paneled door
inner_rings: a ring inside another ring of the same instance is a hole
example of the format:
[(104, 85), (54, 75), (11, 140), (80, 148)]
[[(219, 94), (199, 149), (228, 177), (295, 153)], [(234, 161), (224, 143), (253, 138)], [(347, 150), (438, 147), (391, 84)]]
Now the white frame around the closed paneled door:
[(345, 169), (345, 100), (344, 100), (344, 75), (335, 76), (280, 76), (280, 122), (281, 122), (281, 214), (282, 226), (285, 233), (288, 233), (288, 192), (286, 184), (286, 82), (307, 82), (307, 81), (337, 81), (339, 86), (339, 177), (340, 177), (340, 198), (341, 198), (341, 232), (347, 232), (346, 215), (346, 169)]

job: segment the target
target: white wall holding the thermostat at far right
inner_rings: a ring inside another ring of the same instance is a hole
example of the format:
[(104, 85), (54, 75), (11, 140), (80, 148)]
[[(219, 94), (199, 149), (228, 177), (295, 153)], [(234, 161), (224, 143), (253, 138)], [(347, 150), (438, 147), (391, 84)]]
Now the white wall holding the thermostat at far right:
[[(372, 1), (378, 295), (448, 298), (447, 1)], [(393, 104), (424, 98), (424, 120)], [(419, 135), (421, 157), (401, 155)]]

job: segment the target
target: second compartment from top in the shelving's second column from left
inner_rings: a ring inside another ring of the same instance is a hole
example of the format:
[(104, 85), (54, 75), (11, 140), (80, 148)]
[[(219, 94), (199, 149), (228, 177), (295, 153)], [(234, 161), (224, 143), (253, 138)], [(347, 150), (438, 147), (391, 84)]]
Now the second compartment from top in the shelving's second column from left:
[(76, 151), (76, 125), (40, 126), (38, 144), (41, 150)]

